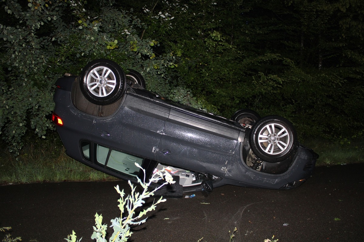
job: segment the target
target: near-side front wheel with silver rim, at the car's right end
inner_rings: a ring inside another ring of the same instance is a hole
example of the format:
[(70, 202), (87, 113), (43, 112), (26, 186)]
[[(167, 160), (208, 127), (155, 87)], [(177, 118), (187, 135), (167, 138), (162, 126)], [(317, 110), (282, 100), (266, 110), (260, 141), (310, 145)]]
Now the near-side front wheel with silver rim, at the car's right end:
[(280, 162), (296, 149), (296, 130), (285, 118), (266, 116), (254, 124), (249, 144), (254, 154), (263, 161)]

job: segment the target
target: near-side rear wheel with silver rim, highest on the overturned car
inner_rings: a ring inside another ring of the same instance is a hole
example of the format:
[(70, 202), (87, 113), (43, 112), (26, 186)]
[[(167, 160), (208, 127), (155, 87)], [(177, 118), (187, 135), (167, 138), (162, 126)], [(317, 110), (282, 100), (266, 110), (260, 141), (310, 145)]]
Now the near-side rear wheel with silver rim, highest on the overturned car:
[(89, 62), (82, 70), (80, 88), (91, 103), (107, 105), (116, 102), (126, 87), (126, 77), (114, 61), (98, 59)]

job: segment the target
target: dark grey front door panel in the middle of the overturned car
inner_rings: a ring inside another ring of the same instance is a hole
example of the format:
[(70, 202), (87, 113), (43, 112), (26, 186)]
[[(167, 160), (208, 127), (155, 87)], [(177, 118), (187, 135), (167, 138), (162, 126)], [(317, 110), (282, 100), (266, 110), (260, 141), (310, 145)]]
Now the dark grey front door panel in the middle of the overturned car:
[(166, 120), (158, 159), (176, 167), (223, 176), (233, 156), (239, 156), (239, 131), (171, 108)]

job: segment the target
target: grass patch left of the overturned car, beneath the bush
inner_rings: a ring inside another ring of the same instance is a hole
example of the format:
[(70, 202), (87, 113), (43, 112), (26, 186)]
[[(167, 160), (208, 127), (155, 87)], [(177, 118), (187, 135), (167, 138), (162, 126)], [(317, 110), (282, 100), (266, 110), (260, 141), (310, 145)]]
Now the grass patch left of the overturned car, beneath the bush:
[(27, 139), (27, 144), (18, 157), (1, 146), (0, 184), (118, 180), (71, 159), (57, 136)]

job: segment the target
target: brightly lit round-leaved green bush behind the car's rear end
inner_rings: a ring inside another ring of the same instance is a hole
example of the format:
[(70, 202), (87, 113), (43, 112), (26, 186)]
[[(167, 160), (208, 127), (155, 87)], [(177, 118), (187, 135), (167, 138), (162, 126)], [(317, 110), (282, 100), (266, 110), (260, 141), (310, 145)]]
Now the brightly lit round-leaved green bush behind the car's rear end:
[(108, 58), (124, 69), (136, 69), (147, 87), (161, 95), (175, 84), (168, 81), (175, 57), (154, 53), (159, 43), (138, 36), (147, 27), (131, 11), (106, 0), (99, 2), (98, 11), (76, 0), (3, 3), (0, 135), (15, 155), (27, 131), (44, 139), (54, 130), (50, 114), (56, 79), (65, 72), (79, 74), (90, 60)]

